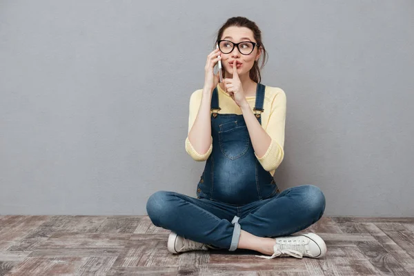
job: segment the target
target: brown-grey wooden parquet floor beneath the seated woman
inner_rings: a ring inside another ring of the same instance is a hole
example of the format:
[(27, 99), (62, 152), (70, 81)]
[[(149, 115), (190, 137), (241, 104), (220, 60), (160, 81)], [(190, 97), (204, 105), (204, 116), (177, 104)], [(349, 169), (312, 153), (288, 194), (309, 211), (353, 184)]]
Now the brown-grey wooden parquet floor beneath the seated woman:
[(0, 275), (414, 275), (414, 218), (322, 217), (324, 259), (168, 253), (147, 216), (0, 216)]

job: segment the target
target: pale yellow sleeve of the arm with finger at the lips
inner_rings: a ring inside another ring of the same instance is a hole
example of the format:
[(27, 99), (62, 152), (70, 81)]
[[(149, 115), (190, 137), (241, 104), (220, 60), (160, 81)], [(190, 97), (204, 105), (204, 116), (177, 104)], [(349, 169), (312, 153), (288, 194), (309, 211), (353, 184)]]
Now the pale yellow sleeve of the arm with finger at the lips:
[(267, 171), (276, 170), (282, 163), (284, 158), (284, 136), (286, 123), (286, 94), (284, 90), (280, 89), (273, 99), (271, 105), (268, 124), (265, 128), (266, 133), (270, 136), (272, 141), (270, 146), (262, 158), (255, 156)]

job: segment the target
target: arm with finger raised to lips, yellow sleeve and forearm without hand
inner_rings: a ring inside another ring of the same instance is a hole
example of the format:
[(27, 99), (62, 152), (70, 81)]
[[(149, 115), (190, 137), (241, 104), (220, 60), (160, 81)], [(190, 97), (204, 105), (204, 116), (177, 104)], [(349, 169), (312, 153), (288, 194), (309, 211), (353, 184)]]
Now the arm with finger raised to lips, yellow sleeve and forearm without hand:
[[(286, 95), (283, 90), (273, 99), (267, 126), (261, 126), (250, 106), (241, 107), (255, 155), (267, 171), (275, 170), (284, 158)], [(265, 130), (266, 129), (266, 130)]]

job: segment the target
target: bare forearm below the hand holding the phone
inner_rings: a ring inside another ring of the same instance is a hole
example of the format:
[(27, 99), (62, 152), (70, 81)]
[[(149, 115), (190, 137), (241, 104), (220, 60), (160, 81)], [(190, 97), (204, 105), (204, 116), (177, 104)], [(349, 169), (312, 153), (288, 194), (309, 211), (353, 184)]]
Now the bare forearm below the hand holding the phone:
[(203, 96), (197, 117), (195, 118), (193, 127), (188, 132), (188, 140), (193, 148), (200, 154), (204, 155), (210, 145), (211, 141), (211, 121), (210, 121), (210, 103), (212, 90), (209, 88), (203, 89)]

